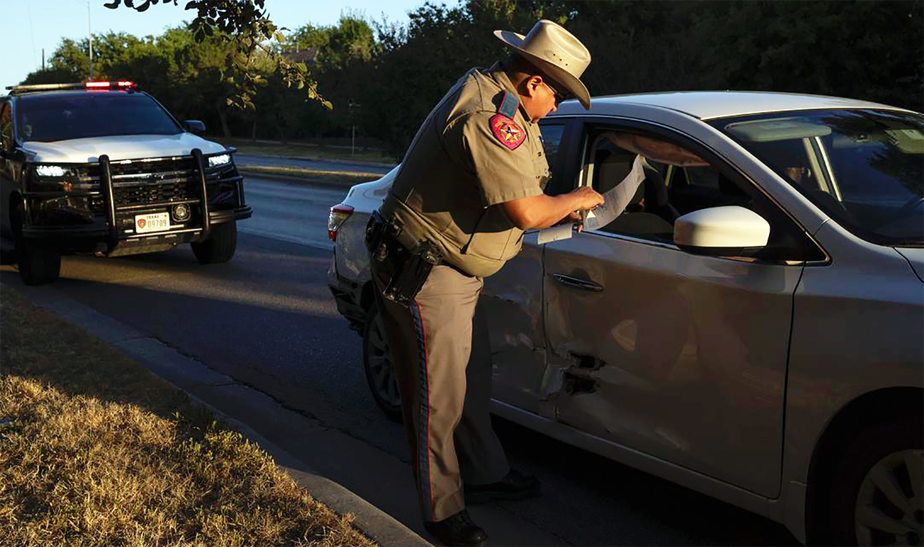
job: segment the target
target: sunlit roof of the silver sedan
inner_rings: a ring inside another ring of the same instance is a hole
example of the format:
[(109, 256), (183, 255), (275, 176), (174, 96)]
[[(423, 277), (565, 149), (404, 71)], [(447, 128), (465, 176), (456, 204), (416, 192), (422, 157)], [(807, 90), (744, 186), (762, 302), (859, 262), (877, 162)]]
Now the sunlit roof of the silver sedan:
[(609, 95), (593, 97), (590, 111), (577, 103), (561, 103), (555, 114), (550, 115), (625, 115), (628, 104), (643, 104), (669, 108), (699, 119), (752, 115), (793, 110), (827, 110), (844, 108), (875, 108), (877, 110), (903, 110), (881, 103), (870, 103), (843, 97), (807, 95), (801, 93), (780, 93), (772, 91), (667, 91)]

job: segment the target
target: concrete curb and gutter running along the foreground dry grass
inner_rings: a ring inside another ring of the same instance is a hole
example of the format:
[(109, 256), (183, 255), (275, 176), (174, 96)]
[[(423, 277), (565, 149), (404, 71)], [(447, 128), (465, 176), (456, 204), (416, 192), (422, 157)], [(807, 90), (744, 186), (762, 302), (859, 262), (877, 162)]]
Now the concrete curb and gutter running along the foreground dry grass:
[[(0, 284), (0, 286), (5, 285)], [(271, 443), (245, 421), (214, 407), (213, 404), (199, 396), (212, 395), (214, 397), (216, 389), (220, 389), (221, 396), (229, 401), (230, 407), (236, 409), (235, 414), (256, 419), (257, 416), (267, 412), (276, 414), (280, 412), (278, 404), (268, 395), (237, 383), (230, 376), (213, 371), (201, 361), (183, 355), (175, 347), (168, 346), (125, 323), (92, 310), (68, 297), (54, 286), (33, 286), (29, 287), (29, 290), (16, 288), (35, 306), (51, 311), (91, 335), (109, 342), (130, 359), (140, 362), (164, 382), (186, 392), (197, 404), (212, 410), (229, 427), (241, 432), (251, 442), (259, 444), (262, 450), (273, 456), (276, 465), (302, 488), (310, 492), (315, 499), (337, 513), (351, 513), (355, 517), (356, 526), (373, 541), (385, 547), (431, 545), (378, 507), (333, 480), (318, 475), (310, 464)], [(193, 393), (194, 389), (198, 393)]]

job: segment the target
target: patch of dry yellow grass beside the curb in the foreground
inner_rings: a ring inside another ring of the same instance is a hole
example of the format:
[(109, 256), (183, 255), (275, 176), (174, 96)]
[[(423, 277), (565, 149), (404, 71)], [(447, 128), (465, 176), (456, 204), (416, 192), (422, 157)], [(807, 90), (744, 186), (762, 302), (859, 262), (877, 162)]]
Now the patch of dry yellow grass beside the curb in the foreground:
[(8, 286), (0, 545), (372, 545), (256, 445)]

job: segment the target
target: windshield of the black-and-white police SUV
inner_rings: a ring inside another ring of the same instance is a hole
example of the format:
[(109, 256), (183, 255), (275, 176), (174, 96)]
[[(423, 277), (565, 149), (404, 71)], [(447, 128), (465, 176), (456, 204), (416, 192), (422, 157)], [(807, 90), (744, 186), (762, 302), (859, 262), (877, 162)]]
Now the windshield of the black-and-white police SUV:
[(24, 95), (16, 115), (19, 137), (42, 142), (183, 131), (151, 97), (124, 91)]

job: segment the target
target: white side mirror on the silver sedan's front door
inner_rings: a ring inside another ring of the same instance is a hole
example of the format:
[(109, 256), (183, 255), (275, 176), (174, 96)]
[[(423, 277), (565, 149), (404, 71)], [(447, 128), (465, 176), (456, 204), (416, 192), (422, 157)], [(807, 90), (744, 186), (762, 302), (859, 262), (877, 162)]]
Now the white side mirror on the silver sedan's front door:
[(746, 256), (766, 247), (770, 223), (738, 205), (687, 213), (674, 223), (674, 243), (695, 254)]

